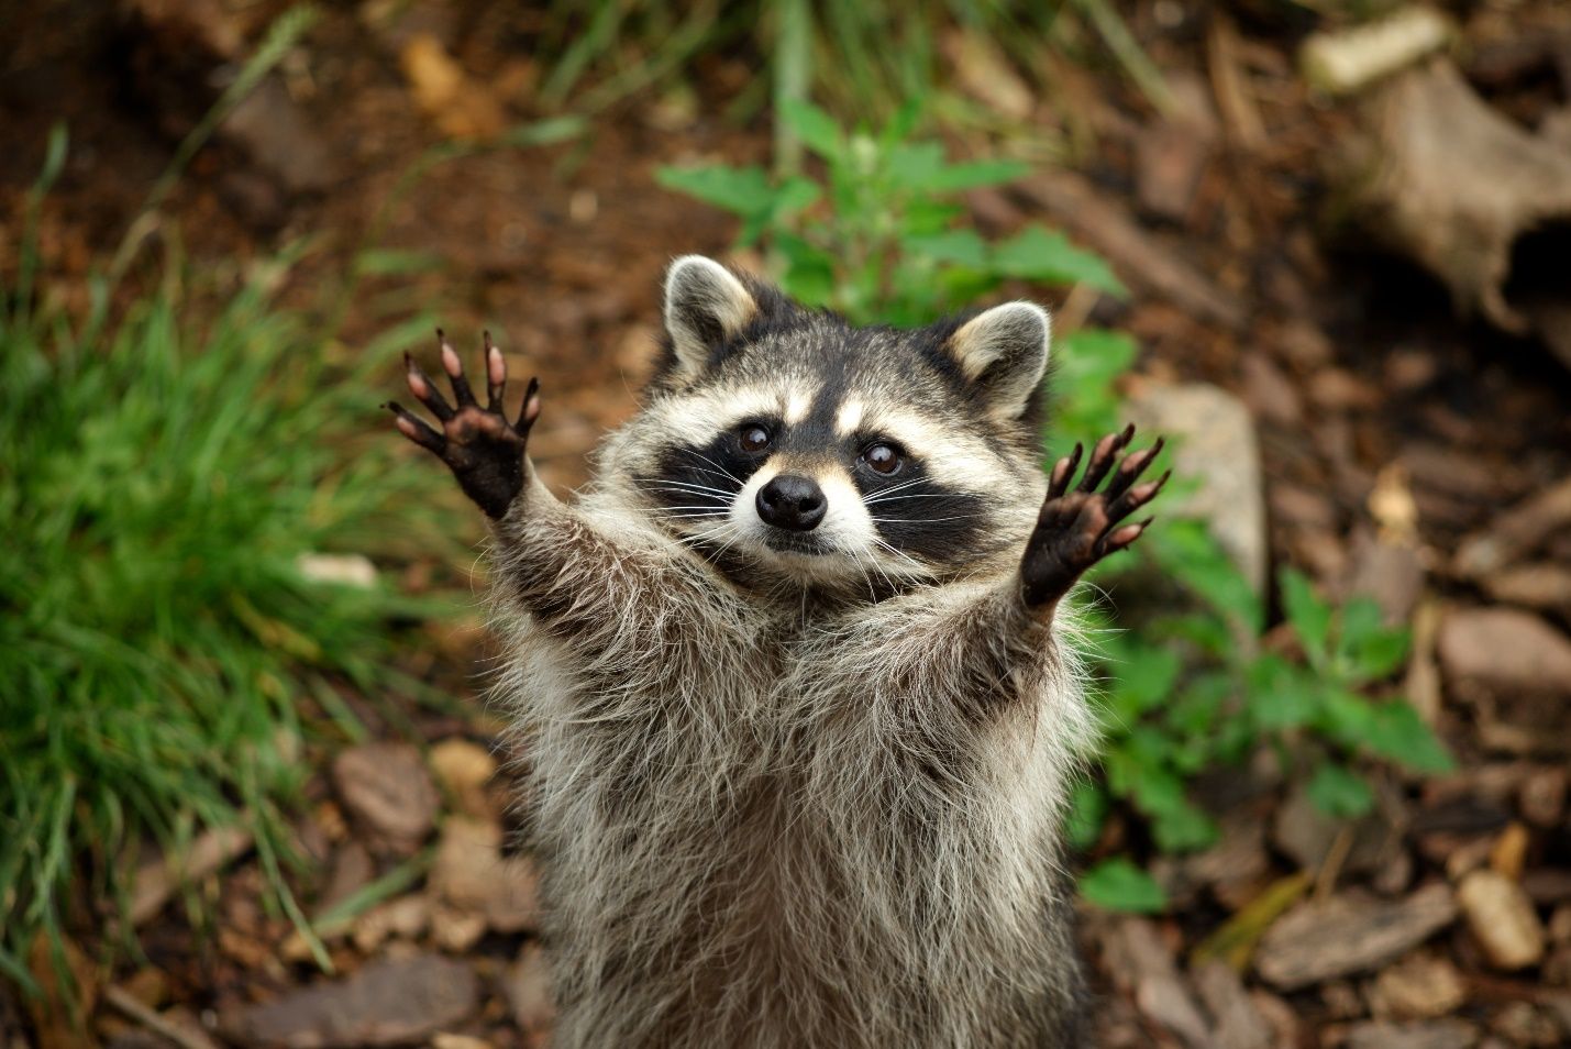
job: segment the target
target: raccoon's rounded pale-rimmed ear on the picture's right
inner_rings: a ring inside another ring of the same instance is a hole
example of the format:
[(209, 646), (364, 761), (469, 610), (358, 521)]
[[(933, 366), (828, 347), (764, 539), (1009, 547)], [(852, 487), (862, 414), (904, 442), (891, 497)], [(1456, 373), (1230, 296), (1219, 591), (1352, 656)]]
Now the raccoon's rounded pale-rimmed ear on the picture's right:
[(988, 415), (1012, 422), (1042, 385), (1051, 334), (1046, 309), (1012, 302), (960, 325), (946, 349), (965, 377), (982, 389)]

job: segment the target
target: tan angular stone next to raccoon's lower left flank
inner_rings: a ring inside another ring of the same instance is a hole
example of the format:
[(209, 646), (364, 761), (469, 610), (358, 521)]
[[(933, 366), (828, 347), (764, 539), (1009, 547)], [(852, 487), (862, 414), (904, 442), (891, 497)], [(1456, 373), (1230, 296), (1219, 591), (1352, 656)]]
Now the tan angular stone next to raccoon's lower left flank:
[(501, 854), (501, 826), (495, 821), (446, 821), (430, 887), (454, 908), (479, 914), (498, 933), (533, 930), (539, 919), (534, 864)]

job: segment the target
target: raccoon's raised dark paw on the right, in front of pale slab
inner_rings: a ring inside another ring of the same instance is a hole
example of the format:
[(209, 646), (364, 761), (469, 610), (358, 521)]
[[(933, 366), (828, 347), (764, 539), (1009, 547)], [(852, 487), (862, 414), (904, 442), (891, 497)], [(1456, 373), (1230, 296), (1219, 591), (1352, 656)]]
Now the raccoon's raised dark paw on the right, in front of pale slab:
[(1026, 543), (1026, 557), (1020, 575), (1026, 605), (1042, 608), (1064, 597), (1075, 581), (1108, 554), (1123, 550), (1145, 531), (1153, 518), (1134, 524), (1122, 524), (1123, 518), (1156, 498), (1172, 471), (1156, 481), (1134, 484), (1163, 451), (1163, 438), (1144, 451), (1130, 452), (1119, 463), (1112, 481), (1101, 492), (1101, 484), (1112, 462), (1134, 437), (1134, 427), (1122, 433), (1109, 433), (1097, 441), (1086, 465), (1086, 476), (1070, 492), (1070, 481), (1079, 466), (1081, 446), (1053, 466), (1048, 481), (1048, 498), (1037, 515), (1037, 528)]

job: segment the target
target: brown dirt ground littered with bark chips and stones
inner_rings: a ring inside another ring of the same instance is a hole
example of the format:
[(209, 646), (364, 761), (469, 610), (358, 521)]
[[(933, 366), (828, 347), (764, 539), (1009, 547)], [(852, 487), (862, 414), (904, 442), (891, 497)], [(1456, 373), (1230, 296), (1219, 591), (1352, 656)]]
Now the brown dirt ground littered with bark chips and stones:
[[(193, 9), (217, 20), (179, 14)], [(0, 64), (11, 146), (0, 152), (0, 265), (13, 262), (14, 217), (46, 132), (66, 119), (72, 154), (42, 239), (52, 284), (79, 289), (211, 101), (214, 71), (234, 58), (225, 49), (244, 53), (278, 9), (63, 2), (0, 16), (11, 36)], [(1103, 1041), (1571, 1044), (1571, 372), (1540, 339), (1458, 317), (1437, 281), (1337, 232), (1321, 160), (1356, 116), (1304, 88), (1295, 53), (1307, 24), (1266, 3), (1225, 14), (1163, 0), (1120, 9), (1169, 77), (1175, 116), (1156, 116), (1112, 71), (1057, 68), (1053, 97), (1038, 99), (1027, 124), (1086, 148), (1064, 170), (974, 195), (977, 223), (1002, 232), (1042, 220), (1111, 258), (1134, 292), (1126, 305), (1045, 297), (1060, 317), (1090, 316), (1141, 339), (1131, 393), (1207, 382), (1243, 400), (1258, 435), (1271, 562), (1299, 565), (1334, 594), (1370, 592), (1412, 623), (1406, 691), (1461, 771), (1426, 782), (1387, 774), (1376, 815), (1348, 832), (1266, 773), (1218, 784), (1225, 837), (1163, 861), (1167, 916), (1084, 916)], [(1463, 72), (1511, 121), (1538, 127), (1571, 101), (1563, 5), (1456, 14)], [(222, 267), (328, 231), (291, 292), (305, 297), (342, 267), (445, 130), (544, 115), (531, 53), (540, 17), (478, 3), (328, 9), (269, 82), (276, 105), (195, 157), (156, 243), (178, 234), (192, 259)], [(412, 41), (423, 41), (416, 58)], [(470, 79), (457, 96), (421, 101), (421, 47), (457, 61)], [(421, 305), (440, 306), (460, 338), (490, 325), (515, 367), (551, 391), (534, 451), (553, 484), (581, 482), (584, 454), (632, 410), (661, 269), (676, 254), (727, 250), (732, 221), (660, 190), (654, 171), (767, 160), (765, 126), (718, 116), (756, 61), (705, 58), (691, 91), (632, 96), (580, 138), (437, 166), (386, 215), (385, 247), (445, 261), (418, 278)], [(1571, 269), (1568, 259), (1549, 264)], [(361, 295), (350, 347), (388, 323), (371, 303), (391, 287), (372, 283)], [(366, 418), (379, 424), (374, 404)], [(1478, 568), (1478, 551), (1499, 556)], [(474, 644), (473, 630), (452, 631), (418, 658), (473, 691), (463, 667)], [(311, 914), (380, 897), (330, 930), (338, 974), (324, 975), (289, 922), (265, 911), (245, 843), (212, 842), (203, 892), (217, 905), (214, 927), (193, 928), (184, 908), (154, 900), (146, 959), (97, 985), (96, 1038), (542, 1043), (550, 1007), (533, 876), (506, 850), (495, 721), (478, 699), (473, 718), (419, 713), (418, 743), (432, 747), (421, 757), (374, 704), (361, 707), (386, 738), (313, 754), (319, 773), (300, 824), (320, 861), (298, 886)], [(388, 889), (385, 876), (401, 872), (408, 878)], [(1192, 964), (1191, 950), (1229, 919), (1271, 922), (1273, 901), (1291, 909), (1241, 970)], [(1529, 961), (1502, 956), (1502, 927), (1525, 930)], [(24, 1033), (30, 1024), (35, 1035)], [(3, 991), (0, 1032), (9, 1044), (72, 1043), (57, 1019), (30, 1016)]]

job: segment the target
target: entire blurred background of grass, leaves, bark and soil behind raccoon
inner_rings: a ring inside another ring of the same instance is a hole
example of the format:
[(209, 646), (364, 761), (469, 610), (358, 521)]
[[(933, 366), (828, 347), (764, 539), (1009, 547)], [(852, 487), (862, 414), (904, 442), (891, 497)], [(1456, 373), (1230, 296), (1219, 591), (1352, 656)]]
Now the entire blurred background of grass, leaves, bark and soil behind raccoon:
[(578, 485), (690, 251), (1035, 298), (1049, 455), (1175, 438), (1104, 1044), (1571, 1044), (1565, 3), (49, 0), (0, 126), (6, 1046), (544, 1044), (481, 518), (379, 405), (489, 328)]

